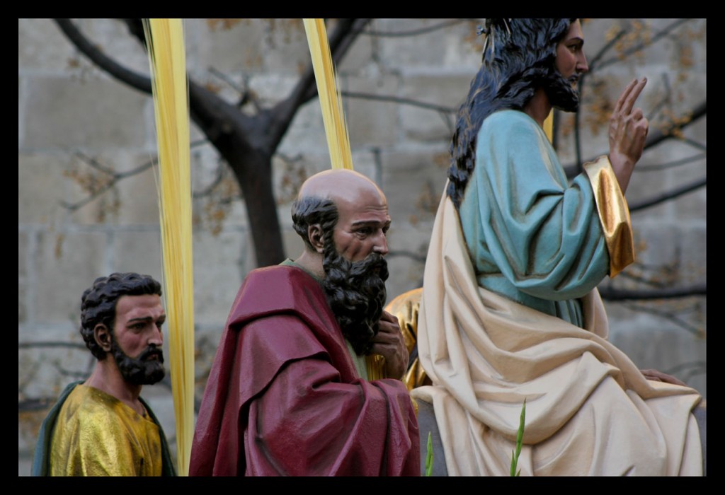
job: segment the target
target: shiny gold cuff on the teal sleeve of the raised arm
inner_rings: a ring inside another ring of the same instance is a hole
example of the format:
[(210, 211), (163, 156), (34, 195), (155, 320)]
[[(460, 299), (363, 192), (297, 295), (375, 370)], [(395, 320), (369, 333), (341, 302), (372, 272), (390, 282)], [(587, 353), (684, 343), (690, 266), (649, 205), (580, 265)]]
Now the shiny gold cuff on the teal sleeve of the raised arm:
[(599, 219), (609, 250), (609, 276), (614, 277), (634, 262), (634, 238), (632, 237), (629, 206), (619, 189), (619, 183), (609, 163), (608, 156), (584, 164), (597, 202)]

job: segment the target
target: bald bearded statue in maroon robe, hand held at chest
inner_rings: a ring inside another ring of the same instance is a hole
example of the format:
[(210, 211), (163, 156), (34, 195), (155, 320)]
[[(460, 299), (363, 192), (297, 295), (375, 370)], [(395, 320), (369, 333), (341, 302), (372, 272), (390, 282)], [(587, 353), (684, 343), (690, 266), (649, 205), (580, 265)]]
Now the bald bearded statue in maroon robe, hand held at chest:
[[(408, 353), (386, 313), (385, 195), (328, 170), (292, 209), (305, 250), (241, 284), (196, 423), (191, 475), (420, 475)], [(365, 356), (386, 376), (367, 381)]]

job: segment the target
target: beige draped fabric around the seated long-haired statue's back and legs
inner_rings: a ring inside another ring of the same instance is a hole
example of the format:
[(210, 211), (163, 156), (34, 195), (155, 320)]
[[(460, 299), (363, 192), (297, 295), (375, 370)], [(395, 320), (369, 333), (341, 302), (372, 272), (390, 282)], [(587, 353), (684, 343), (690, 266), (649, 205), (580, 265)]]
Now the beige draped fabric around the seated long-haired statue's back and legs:
[[(521, 475), (700, 475), (691, 410), (700, 395), (647, 381), (607, 341), (595, 290), (585, 328), (476, 284), (457, 211), (444, 194), (418, 316), (418, 352), (433, 386), (450, 475), (508, 475), (523, 399)], [(421, 431), (421, 437), (427, 433)]]

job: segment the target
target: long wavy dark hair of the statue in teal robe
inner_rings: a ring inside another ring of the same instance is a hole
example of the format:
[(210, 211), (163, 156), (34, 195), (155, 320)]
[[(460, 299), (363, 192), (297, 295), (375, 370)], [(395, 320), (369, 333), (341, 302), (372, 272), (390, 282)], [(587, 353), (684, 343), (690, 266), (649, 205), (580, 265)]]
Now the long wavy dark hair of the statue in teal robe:
[(557, 43), (576, 19), (487, 19), (483, 61), (457, 115), (450, 145), (447, 194), (460, 207), (476, 166), (476, 137), (484, 119), (501, 109), (521, 110), (558, 72)]

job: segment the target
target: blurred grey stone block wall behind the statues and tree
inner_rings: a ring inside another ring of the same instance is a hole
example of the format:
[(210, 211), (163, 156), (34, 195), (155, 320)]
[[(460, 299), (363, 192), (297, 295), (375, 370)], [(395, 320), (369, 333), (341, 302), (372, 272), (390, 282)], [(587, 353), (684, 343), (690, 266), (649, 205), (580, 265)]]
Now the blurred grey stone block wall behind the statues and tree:
[[(339, 67), (341, 87), (415, 100), (455, 109), (465, 98), (480, 63), (476, 22), (450, 20), (376, 20), (361, 35)], [(650, 20), (653, 33), (677, 20)], [(112, 20), (81, 20), (80, 27), (104, 51), (127, 67), (148, 73), (144, 51)], [(618, 20), (584, 24), (590, 63)], [(213, 26), (213, 28), (212, 28)], [(686, 22), (684, 43), (666, 38), (653, 48), (611, 64), (595, 89), (618, 93), (633, 77), (650, 82), (640, 98), (648, 117), (660, 101), (676, 112), (705, 101), (705, 20)], [(372, 32), (375, 32), (373, 35)], [(398, 36), (393, 33), (414, 33)], [(78, 335), (79, 299), (96, 276), (138, 271), (161, 279), (157, 180), (152, 168), (123, 179), (106, 193), (83, 201), (77, 180), (103, 181), (88, 159), (116, 172), (130, 172), (154, 158), (156, 143), (152, 99), (97, 69), (72, 48), (51, 20), (19, 20), (18, 45), (18, 388), (19, 402), (57, 397), (76, 376), (93, 365)], [(626, 41), (626, 40), (625, 40)], [(308, 51), (299, 20), (242, 20), (229, 29), (205, 20), (187, 20), (188, 69), (192, 77), (233, 101), (234, 87), (252, 88), (261, 103), (286, 96), (307, 63)], [(677, 67), (687, 68), (685, 72)], [(218, 74), (223, 74), (220, 77)], [(668, 93), (669, 92), (669, 93)], [(598, 94), (598, 93), (597, 93)], [(585, 93), (582, 156), (606, 153), (606, 127), (587, 121), (598, 101)], [(452, 113), (429, 107), (368, 98), (345, 98), (355, 169), (378, 182), (389, 200), (390, 297), (418, 287), (433, 212), (445, 182)], [(680, 114), (676, 113), (676, 116)], [(573, 164), (571, 117), (563, 116), (559, 148), (563, 164)], [(631, 205), (706, 177), (706, 119), (645, 153), (627, 198)], [(192, 129), (192, 141), (200, 140)], [(659, 168), (702, 154), (689, 164)], [(87, 157), (87, 158), (84, 158)], [(202, 190), (223, 170), (215, 151), (204, 143), (191, 153), (194, 185)], [(275, 161), (278, 212), (286, 253), (296, 257), (302, 242), (291, 229), (290, 199), (303, 177), (328, 168), (318, 101), (305, 105), (278, 150)], [(226, 179), (226, 183), (229, 179)], [(231, 187), (231, 191), (235, 190)], [(220, 193), (215, 193), (220, 194)], [(705, 187), (653, 208), (632, 213), (638, 245), (637, 264), (605, 286), (648, 288), (638, 277), (660, 287), (705, 283)], [(221, 216), (213, 216), (210, 207)], [(225, 318), (244, 274), (254, 268), (254, 253), (241, 200), (220, 207), (214, 200), (194, 200), (199, 222), (194, 228), (196, 373), (199, 397)], [(705, 389), (705, 297), (654, 302), (608, 303), (610, 339), (640, 368), (670, 371)], [(63, 347), (54, 345), (60, 342)], [(167, 346), (167, 343), (165, 344)], [(167, 436), (173, 442), (173, 406), (167, 386), (144, 389)], [(37, 428), (47, 407), (19, 413), (19, 473), (29, 472)]]

